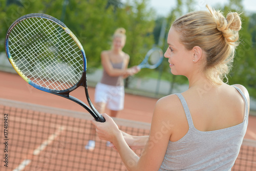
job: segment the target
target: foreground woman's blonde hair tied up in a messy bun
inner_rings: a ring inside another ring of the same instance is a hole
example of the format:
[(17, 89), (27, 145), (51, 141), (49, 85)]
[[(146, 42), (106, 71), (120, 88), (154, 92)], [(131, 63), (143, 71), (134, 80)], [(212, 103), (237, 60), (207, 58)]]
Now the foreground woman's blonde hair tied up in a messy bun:
[(203, 71), (212, 83), (221, 84), (224, 78), (228, 81), (242, 23), (237, 12), (229, 12), (225, 18), (220, 11), (206, 7), (209, 11), (181, 16), (172, 27), (181, 33), (180, 42), (187, 50), (199, 46), (206, 53)]

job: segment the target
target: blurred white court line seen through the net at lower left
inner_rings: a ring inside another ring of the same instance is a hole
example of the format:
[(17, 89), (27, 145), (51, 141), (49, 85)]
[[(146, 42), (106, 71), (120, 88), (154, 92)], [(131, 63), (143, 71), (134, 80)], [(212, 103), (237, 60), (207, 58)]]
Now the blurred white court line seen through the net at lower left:
[[(48, 144), (50, 144), (59, 134), (61, 131), (65, 130), (65, 126), (60, 126), (59, 129), (52, 135), (48, 137), (47, 140), (41, 143), (34, 151), (33, 155), (37, 156), (43, 151)], [(30, 159), (25, 159), (22, 163), (20, 163), (13, 171), (22, 171), (27, 165), (31, 163)]]

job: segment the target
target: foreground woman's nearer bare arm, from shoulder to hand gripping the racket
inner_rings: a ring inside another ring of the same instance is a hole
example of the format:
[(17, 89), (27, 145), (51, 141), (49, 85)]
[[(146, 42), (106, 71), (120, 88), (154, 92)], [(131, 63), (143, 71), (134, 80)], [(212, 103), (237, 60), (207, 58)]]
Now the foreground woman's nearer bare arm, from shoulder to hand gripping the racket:
[(111, 117), (103, 114), (106, 122), (101, 123), (93, 120), (92, 123), (96, 126), (100, 139), (113, 143), (128, 170), (158, 170), (172, 134), (173, 124), (169, 118), (171, 116), (170, 109), (173, 108), (168, 104), (169, 102), (166, 102), (165, 99), (158, 100), (153, 114), (150, 136), (147, 138), (140, 157), (125, 142), (123, 133), (118, 129)]

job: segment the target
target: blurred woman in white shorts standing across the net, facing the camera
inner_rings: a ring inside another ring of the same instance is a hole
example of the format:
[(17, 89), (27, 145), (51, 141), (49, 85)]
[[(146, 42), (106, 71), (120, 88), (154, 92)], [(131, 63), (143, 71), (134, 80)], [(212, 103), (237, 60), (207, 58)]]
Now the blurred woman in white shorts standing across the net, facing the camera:
[[(124, 106), (123, 79), (140, 71), (135, 66), (127, 69), (130, 56), (122, 51), (126, 41), (125, 29), (118, 28), (112, 41), (112, 48), (101, 52), (103, 76), (95, 89), (95, 108), (102, 114), (105, 108), (110, 109), (110, 116), (116, 117)], [(95, 147), (95, 129), (92, 128), (91, 138), (85, 146), (88, 150)]]

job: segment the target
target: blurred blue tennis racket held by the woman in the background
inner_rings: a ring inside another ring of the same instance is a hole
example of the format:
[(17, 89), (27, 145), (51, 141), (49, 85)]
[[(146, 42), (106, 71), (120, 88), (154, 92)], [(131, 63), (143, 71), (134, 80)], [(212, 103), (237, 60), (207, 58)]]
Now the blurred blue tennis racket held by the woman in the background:
[(152, 48), (146, 53), (143, 61), (138, 65), (140, 69), (149, 68), (155, 69), (157, 68), (163, 61), (163, 51), (160, 48)]

